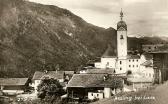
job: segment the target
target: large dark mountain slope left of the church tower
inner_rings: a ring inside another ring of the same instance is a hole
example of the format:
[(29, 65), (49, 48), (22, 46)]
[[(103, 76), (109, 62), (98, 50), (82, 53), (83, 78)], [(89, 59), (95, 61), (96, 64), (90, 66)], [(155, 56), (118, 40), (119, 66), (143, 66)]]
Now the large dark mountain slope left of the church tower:
[(94, 26), (57, 6), (0, 0), (0, 77), (78, 70), (108, 44), (115, 49), (113, 28)]

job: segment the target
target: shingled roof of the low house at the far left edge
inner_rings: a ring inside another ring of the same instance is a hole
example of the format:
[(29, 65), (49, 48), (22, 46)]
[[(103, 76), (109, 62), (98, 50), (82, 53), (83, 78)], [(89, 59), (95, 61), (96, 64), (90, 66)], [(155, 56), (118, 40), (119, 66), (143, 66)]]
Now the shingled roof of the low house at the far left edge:
[(13, 85), (25, 85), (28, 78), (0, 78), (0, 85), (13, 86)]

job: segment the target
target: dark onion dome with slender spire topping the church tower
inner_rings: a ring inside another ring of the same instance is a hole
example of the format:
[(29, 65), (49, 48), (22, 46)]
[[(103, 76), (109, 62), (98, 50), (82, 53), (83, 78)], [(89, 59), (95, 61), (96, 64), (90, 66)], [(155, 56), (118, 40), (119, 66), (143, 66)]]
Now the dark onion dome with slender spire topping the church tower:
[(121, 18), (121, 20), (117, 23), (117, 30), (119, 30), (120, 28), (124, 29), (124, 30), (127, 30), (127, 24), (126, 24), (125, 21), (123, 21), (123, 12), (122, 12), (122, 10), (120, 12), (120, 18)]

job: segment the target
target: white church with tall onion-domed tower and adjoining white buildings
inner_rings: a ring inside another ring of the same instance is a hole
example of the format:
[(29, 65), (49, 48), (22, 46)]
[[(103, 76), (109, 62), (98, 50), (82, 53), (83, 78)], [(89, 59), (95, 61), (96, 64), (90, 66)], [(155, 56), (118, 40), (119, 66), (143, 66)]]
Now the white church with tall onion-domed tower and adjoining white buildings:
[(146, 56), (143, 54), (128, 54), (127, 24), (123, 17), (121, 10), (120, 21), (117, 23), (117, 55), (111, 55), (110, 47), (108, 47), (101, 57), (101, 62), (95, 62), (94, 66), (98, 69), (111, 69), (115, 74), (140, 73), (143, 63), (148, 60), (144, 60)]

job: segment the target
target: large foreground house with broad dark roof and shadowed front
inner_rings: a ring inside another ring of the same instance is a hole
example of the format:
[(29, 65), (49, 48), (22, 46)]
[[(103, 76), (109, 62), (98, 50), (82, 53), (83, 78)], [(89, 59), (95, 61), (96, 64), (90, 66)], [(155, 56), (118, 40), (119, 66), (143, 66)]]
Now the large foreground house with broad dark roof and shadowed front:
[(74, 74), (67, 85), (72, 99), (103, 99), (123, 91), (124, 80), (108, 74)]

